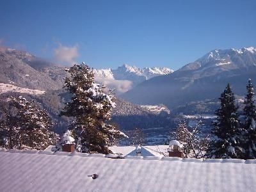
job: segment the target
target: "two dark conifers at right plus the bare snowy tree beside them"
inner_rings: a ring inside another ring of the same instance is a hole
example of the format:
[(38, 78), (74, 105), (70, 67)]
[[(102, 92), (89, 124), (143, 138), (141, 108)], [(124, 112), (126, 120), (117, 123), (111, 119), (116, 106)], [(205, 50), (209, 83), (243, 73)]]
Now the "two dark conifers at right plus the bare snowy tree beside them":
[(234, 92), (227, 84), (219, 98), (220, 108), (215, 113), (217, 117), (212, 122), (211, 139), (199, 137), (200, 125), (189, 129), (186, 122), (180, 122), (171, 139), (184, 144), (186, 157), (256, 159), (256, 108), (251, 79), (246, 90), (243, 113), (239, 115)]

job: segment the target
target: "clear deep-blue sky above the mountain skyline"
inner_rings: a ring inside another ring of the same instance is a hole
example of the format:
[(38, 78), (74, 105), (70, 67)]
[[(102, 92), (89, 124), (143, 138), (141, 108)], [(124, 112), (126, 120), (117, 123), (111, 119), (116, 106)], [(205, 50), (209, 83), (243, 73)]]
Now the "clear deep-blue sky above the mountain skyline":
[(256, 46), (256, 1), (1, 1), (0, 43), (58, 63), (177, 69)]

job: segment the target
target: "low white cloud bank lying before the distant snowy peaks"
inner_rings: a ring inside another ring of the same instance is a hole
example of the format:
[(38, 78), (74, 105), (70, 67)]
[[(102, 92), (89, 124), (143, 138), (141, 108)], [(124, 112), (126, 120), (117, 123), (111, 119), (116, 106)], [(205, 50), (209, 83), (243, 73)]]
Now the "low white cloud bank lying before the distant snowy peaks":
[(132, 88), (132, 81), (128, 81), (128, 80), (104, 79), (104, 78), (95, 76), (95, 81), (106, 85), (108, 89), (115, 88), (117, 94), (127, 92)]

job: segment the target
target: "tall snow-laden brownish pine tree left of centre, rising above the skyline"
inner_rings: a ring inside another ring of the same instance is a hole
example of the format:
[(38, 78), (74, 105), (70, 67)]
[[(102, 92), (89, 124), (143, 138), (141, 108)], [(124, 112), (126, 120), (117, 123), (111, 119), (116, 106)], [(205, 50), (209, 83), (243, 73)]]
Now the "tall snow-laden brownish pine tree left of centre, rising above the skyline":
[(103, 92), (103, 86), (95, 83), (93, 71), (84, 62), (67, 69), (70, 77), (65, 79), (65, 88), (72, 93), (61, 115), (73, 117), (70, 129), (82, 152), (108, 154), (108, 145), (116, 138), (125, 136), (123, 132), (107, 124), (115, 108), (115, 96)]

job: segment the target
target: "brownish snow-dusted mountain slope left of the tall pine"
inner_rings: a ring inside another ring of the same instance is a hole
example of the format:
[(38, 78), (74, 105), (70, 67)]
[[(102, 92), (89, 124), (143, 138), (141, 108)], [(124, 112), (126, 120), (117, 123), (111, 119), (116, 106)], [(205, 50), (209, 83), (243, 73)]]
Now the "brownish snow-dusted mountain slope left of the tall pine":
[(63, 67), (52, 67), (49, 61), (25, 51), (0, 47), (0, 83), (38, 90), (58, 90), (67, 76)]

